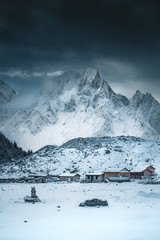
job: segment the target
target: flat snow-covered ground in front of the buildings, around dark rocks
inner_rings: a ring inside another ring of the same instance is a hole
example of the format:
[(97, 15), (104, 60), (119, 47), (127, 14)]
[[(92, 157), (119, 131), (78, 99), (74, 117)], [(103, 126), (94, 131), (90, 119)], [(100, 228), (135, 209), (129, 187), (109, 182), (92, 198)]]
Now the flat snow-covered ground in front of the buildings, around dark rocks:
[[(0, 184), (1, 240), (159, 239), (159, 185), (35, 184), (42, 200), (35, 204), (23, 200), (31, 186)], [(93, 197), (109, 206), (78, 207)]]

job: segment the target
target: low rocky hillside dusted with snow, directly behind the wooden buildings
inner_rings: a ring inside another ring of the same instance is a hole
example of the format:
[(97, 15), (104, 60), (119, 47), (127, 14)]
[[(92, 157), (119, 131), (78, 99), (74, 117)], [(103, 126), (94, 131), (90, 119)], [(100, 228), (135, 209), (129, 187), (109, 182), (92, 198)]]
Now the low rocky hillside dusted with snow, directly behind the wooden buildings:
[[(160, 174), (160, 142), (135, 137), (77, 138), (60, 147), (46, 146), (19, 162), (1, 166), (1, 175), (103, 172), (153, 165)], [(12, 171), (11, 171), (12, 170)]]

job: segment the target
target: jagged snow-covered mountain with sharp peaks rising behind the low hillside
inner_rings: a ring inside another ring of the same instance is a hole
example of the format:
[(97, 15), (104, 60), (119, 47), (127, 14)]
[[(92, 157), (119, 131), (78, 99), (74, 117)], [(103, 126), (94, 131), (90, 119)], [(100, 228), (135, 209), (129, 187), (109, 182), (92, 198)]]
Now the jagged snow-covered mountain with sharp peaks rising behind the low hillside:
[(24, 149), (61, 145), (78, 137), (160, 138), (160, 104), (139, 91), (116, 94), (96, 69), (65, 72), (46, 84), (37, 103), (18, 110), (0, 130)]

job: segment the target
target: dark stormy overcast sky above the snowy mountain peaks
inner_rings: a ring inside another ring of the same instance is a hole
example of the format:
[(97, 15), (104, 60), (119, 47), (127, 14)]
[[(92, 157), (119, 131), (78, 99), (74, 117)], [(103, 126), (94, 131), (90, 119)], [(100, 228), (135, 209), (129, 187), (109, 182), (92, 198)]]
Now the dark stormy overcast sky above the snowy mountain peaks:
[(160, 1), (1, 0), (0, 78), (37, 89), (95, 67), (114, 91), (160, 101)]

